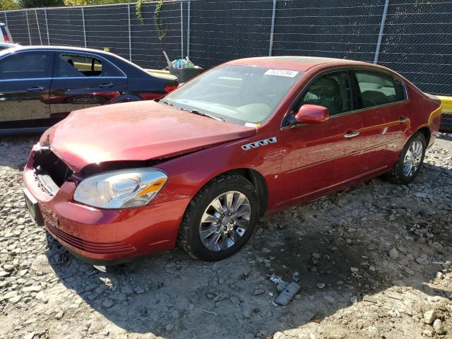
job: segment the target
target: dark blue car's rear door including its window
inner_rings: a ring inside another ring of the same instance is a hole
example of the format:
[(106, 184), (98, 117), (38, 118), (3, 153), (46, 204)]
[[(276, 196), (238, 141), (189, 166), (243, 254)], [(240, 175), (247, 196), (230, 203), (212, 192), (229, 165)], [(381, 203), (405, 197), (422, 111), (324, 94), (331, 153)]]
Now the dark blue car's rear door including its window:
[(125, 74), (97, 54), (55, 52), (50, 112), (56, 117), (108, 104), (124, 93), (126, 86)]

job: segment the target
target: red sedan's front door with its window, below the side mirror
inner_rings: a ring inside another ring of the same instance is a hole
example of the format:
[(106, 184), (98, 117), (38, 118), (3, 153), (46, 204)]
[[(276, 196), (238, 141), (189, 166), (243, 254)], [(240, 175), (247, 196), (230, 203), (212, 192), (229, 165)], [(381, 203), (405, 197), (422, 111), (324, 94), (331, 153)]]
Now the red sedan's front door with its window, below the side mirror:
[(352, 112), (348, 73), (327, 73), (311, 82), (293, 112), (304, 104), (327, 107), (330, 118), (320, 124), (283, 126), (281, 138), (286, 150), (281, 171), (285, 183), (281, 205), (334, 189), (360, 174), (362, 118)]

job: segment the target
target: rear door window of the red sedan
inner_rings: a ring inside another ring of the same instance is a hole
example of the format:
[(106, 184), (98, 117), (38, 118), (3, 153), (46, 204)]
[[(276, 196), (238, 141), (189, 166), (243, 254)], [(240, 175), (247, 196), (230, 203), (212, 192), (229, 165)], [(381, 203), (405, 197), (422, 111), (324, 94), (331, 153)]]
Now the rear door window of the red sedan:
[(403, 83), (378, 71), (355, 71), (362, 108), (391, 104), (406, 99)]

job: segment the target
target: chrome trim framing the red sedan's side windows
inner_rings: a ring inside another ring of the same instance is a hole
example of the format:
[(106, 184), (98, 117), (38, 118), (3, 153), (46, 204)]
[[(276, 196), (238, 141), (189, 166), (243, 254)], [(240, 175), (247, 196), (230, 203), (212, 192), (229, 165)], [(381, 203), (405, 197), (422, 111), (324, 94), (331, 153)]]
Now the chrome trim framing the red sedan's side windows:
[[(395, 75), (395, 74), (391, 73), (390, 71), (386, 71), (384, 69), (376, 69), (376, 68), (374, 68), (372, 66), (346, 66), (346, 67), (341, 66), (341, 67), (338, 67), (338, 68), (335, 68), (335, 69), (326, 69), (325, 71), (321, 71), (320, 73), (316, 74), (316, 76), (314, 76), (314, 78), (311, 78), (309, 83), (304, 85), (302, 90), (299, 91), (299, 95), (297, 95), (295, 100), (292, 101), (292, 103), (290, 104), (290, 108), (292, 108), (293, 105), (295, 105), (295, 102), (297, 102), (297, 100), (302, 95), (304, 90), (307, 90), (309, 88), (309, 86), (314, 81), (316, 81), (316, 79), (318, 79), (319, 77), (324, 76), (324, 75), (326, 75), (328, 73), (336, 73), (336, 72), (340, 72), (340, 71), (344, 71), (344, 72), (347, 72), (347, 71), (374, 71), (376, 73), (385, 73), (385, 74), (387, 74), (389, 76), (393, 76), (394, 78), (397, 78), (398, 81), (400, 81), (400, 83), (402, 83), (403, 90), (404, 90), (404, 93), (405, 93), (405, 100), (400, 100), (400, 101), (395, 101), (395, 102), (388, 102), (387, 104), (376, 105), (376, 106), (371, 106), (371, 107), (364, 107), (364, 108), (360, 108), (360, 109), (352, 109), (351, 111), (347, 111), (347, 112), (342, 112), (342, 113), (339, 113), (339, 114), (331, 115), (329, 117), (329, 119), (334, 119), (335, 117), (343, 117), (343, 116), (348, 115), (348, 114), (355, 114), (355, 113), (359, 113), (359, 112), (365, 112), (365, 111), (369, 111), (370, 109), (377, 109), (377, 108), (386, 107), (386, 106), (399, 105), (399, 104), (401, 104), (403, 102), (410, 101), (409, 98), (408, 98), (407, 85), (405, 84), (405, 81), (403, 81), (403, 79), (400, 78), (400, 76)], [(283, 123), (284, 123), (285, 119), (287, 118), (288, 114), (289, 114), (289, 111), (287, 111), (284, 114), (283, 120), (281, 121), (281, 124), (280, 124), (280, 131), (284, 131), (285, 129), (292, 129), (294, 127), (307, 125), (307, 124), (283, 125)]]

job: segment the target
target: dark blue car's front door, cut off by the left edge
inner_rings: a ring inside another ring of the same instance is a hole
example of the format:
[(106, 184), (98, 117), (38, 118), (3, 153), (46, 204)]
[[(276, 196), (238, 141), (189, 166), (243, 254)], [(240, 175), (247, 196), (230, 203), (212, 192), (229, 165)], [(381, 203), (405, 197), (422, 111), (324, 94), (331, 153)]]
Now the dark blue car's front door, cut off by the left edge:
[(0, 129), (49, 126), (52, 54), (23, 51), (0, 59)]

